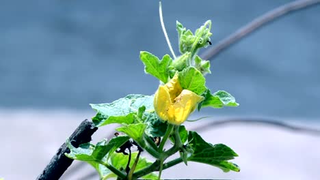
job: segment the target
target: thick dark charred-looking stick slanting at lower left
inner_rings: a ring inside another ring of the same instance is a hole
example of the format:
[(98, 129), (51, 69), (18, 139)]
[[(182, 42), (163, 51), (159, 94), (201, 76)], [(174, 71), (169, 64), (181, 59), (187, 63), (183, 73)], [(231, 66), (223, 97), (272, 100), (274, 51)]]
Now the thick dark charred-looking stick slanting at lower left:
[[(71, 134), (69, 140), (74, 147), (79, 147), (79, 145), (90, 142), (92, 134), (98, 130), (94, 127), (91, 121), (85, 119), (77, 127), (75, 132)], [(38, 180), (53, 180), (59, 179), (66, 169), (71, 165), (73, 160), (66, 157), (64, 153), (70, 153), (70, 149), (66, 146), (66, 142), (58, 149), (57, 153), (52, 157), (49, 164), (44, 168), (41, 175), (38, 176)]]

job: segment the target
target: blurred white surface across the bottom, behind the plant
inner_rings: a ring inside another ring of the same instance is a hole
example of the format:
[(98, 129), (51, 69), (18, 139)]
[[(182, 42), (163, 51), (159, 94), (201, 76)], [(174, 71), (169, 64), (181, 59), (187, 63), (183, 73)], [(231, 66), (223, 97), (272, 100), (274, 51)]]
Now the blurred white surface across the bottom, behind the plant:
[[(36, 179), (77, 125), (92, 115), (94, 112), (0, 111), (0, 177), (5, 180)], [(186, 125), (191, 129), (206, 122), (200, 120)], [(101, 128), (94, 134), (94, 141), (109, 132), (109, 128)], [(200, 134), (208, 142), (224, 143), (234, 149), (239, 157), (232, 162), (241, 167), (241, 172), (224, 173), (205, 164), (190, 162), (189, 166), (181, 164), (165, 170), (163, 178), (320, 179), (320, 136), (261, 125), (226, 125)], [(78, 175), (72, 174), (65, 179), (79, 179), (92, 170), (90, 166), (84, 166)]]

